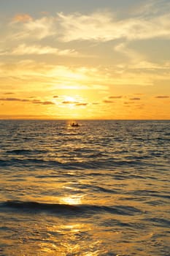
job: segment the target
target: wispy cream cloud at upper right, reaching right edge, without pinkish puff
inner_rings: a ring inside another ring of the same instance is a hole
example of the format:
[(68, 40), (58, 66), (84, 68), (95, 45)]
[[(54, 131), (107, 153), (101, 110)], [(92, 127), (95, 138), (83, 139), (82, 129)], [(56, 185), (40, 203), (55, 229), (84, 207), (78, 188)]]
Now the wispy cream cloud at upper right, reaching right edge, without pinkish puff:
[(58, 13), (63, 29), (61, 39), (73, 40), (109, 40), (124, 38), (127, 40), (170, 37), (169, 12), (160, 16), (139, 16), (118, 20), (109, 12), (94, 12), (90, 15)]

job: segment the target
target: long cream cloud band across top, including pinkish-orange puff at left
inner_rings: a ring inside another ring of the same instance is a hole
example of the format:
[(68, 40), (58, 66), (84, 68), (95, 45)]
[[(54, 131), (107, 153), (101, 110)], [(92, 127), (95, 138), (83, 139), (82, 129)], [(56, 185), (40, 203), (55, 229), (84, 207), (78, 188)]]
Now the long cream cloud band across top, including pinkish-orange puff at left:
[[(157, 4), (157, 3), (156, 3)], [(155, 5), (156, 5), (155, 4)], [(154, 4), (152, 4), (153, 6)], [(166, 4), (165, 4), (166, 5)], [(128, 41), (151, 38), (170, 38), (169, 33), (169, 5), (164, 12), (146, 15), (131, 15), (120, 19), (116, 12), (58, 12), (55, 16), (45, 16), (34, 19), (28, 14), (16, 15), (13, 19), (13, 39), (55, 39), (71, 42), (74, 40), (95, 40), (107, 42), (115, 39)]]

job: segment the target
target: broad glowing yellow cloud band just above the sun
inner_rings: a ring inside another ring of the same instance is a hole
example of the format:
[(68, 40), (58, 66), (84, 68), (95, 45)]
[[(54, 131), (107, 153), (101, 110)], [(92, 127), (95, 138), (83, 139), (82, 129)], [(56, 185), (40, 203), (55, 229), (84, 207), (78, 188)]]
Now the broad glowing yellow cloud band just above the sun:
[[(11, 64), (0, 64), (0, 75), (1, 89), (4, 88), (4, 91), (13, 89), (20, 91), (23, 83), (27, 83), (29, 86), (24, 87), (25, 91), (34, 90), (35, 86), (38, 91), (42, 91), (43, 86), (43, 90), (53, 90), (53, 94), (58, 89), (72, 89), (98, 91), (98, 94), (107, 93), (107, 95), (113, 86), (152, 86), (155, 80), (163, 81), (170, 78), (167, 70), (161, 73), (148, 74), (125, 69), (123, 74), (117, 74), (115, 67), (109, 67), (105, 70), (103, 66), (96, 68), (77, 65), (64, 66), (31, 59), (15, 61)], [(114, 94), (109, 95), (116, 96)]]

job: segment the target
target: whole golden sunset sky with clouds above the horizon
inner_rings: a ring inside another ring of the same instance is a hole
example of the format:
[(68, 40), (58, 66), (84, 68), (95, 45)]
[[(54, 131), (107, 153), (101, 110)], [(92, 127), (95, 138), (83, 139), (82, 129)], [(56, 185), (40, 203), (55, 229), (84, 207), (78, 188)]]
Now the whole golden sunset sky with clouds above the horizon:
[(0, 118), (170, 119), (169, 0), (0, 0)]

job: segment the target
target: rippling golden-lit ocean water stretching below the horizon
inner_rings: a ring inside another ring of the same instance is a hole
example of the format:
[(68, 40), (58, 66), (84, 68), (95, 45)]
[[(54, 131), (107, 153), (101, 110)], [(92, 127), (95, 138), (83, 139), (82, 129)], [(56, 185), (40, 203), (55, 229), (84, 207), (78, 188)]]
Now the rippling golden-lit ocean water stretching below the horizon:
[(170, 121), (0, 121), (0, 255), (170, 255)]

